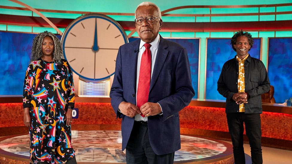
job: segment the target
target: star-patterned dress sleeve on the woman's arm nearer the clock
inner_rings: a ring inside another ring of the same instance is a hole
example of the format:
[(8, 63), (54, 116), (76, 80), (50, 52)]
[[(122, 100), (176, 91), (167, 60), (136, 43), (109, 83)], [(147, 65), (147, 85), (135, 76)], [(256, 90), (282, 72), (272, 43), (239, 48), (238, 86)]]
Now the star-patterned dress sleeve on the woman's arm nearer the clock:
[(74, 92), (74, 82), (73, 82), (73, 73), (69, 64), (67, 64), (67, 81), (68, 81), (68, 90), (67, 90), (67, 104), (68, 106), (74, 107), (75, 101), (75, 92)]

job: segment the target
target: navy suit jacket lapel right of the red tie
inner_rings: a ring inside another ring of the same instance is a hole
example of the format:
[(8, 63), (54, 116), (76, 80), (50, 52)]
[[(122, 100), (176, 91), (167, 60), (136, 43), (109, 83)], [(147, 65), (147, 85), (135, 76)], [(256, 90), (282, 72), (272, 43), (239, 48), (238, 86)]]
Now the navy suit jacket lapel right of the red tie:
[(167, 48), (167, 44), (165, 42), (165, 39), (163, 39), (160, 36), (160, 43), (159, 43), (159, 46), (158, 46), (156, 59), (155, 59), (155, 65), (154, 65), (154, 68), (153, 68), (153, 73), (152, 73), (152, 77), (151, 77), (151, 81), (150, 81), (149, 93), (150, 93), (154, 83), (157, 80), (159, 72), (161, 71), (161, 68), (162, 68), (162, 66), (163, 66), (163, 64), (165, 62), (166, 56), (168, 54), (168, 50), (165, 50), (165, 48)]

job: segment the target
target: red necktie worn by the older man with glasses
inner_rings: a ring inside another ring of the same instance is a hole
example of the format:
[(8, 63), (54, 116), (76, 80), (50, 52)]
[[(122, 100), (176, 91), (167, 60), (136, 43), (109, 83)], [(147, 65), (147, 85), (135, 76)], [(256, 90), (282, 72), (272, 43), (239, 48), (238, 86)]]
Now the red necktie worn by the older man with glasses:
[[(141, 57), (140, 71), (139, 71), (139, 82), (137, 89), (137, 107), (140, 107), (148, 102), (150, 79), (151, 79), (151, 45), (145, 43), (146, 48)], [(141, 110), (141, 109), (140, 109)], [(145, 117), (141, 114), (142, 117)]]

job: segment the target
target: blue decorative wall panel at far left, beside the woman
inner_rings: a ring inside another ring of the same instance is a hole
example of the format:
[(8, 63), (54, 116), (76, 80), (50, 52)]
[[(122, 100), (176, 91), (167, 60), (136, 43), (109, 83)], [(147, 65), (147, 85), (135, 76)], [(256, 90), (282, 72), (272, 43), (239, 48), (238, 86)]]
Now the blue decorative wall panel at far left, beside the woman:
[[(25, 71), (36, 35), (0, 32), (0, 95), (22, 95)], [(60, 35), (58, 37), (61, 38)]]

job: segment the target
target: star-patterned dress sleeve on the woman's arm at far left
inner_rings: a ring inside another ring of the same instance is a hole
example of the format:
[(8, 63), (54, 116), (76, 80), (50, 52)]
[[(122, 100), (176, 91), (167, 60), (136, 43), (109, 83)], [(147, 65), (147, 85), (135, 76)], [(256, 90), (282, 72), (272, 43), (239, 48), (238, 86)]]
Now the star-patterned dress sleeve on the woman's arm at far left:
[(31, 65), (28, 65), (28, 68), (25, 73), (24, 85), (23, 85), (23, 108), (31, 107), (31, 96), (32, 96), (32, 87), (34, 85), (34, 77), (31, 76), (32, 69)]

